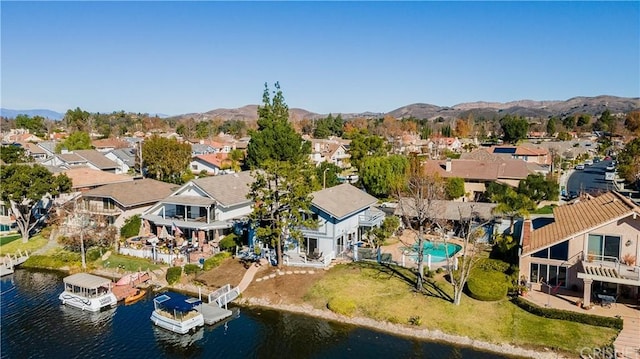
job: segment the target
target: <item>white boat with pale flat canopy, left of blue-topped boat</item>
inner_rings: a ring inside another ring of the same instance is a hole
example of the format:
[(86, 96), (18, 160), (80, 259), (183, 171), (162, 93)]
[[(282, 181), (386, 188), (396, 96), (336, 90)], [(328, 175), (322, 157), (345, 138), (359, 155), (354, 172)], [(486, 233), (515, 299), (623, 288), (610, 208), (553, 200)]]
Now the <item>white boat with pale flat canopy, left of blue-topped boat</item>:
[(77, 273), (65, 277), (64, 292), (59, 299), (62, 304), (98, 312), (102, 308), (115, 307), (118, 299), (111, 290), (111, 280), (88, 273)]

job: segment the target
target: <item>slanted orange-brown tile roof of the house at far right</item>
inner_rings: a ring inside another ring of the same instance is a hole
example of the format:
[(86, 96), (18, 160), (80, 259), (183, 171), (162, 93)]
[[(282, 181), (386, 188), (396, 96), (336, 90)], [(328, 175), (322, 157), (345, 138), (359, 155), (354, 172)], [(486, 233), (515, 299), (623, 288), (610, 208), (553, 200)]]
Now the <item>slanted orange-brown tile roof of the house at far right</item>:
[(523, 253), (537, 251), (633, 213), (640, 214), (640, 208), (617, 192), (556, 207), (553, 210), (555, 221), (533, 230), (530, 244), (523, 246)]

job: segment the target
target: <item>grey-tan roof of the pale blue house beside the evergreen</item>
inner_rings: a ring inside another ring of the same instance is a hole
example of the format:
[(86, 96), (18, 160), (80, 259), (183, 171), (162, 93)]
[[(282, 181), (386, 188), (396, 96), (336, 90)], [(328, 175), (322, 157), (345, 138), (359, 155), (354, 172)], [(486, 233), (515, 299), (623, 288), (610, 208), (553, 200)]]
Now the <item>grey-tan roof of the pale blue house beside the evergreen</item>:
[(367, 209), (378, 202), (372, 195), (349, 183), (313, 192), (312, 196), (313, 206), (338, 219)]

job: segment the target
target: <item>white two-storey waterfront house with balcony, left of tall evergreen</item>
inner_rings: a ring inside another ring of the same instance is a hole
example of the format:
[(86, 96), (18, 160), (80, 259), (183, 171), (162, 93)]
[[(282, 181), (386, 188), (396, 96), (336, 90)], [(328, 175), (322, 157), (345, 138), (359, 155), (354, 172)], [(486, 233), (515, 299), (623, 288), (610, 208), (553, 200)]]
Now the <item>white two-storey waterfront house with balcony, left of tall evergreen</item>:
[(142, 218), (158, 237), (179, 232), (200, 243), (217, 242), (252, 212), (247, 195), (253, 181), (249, 171), (197, 178), (144, 211)]

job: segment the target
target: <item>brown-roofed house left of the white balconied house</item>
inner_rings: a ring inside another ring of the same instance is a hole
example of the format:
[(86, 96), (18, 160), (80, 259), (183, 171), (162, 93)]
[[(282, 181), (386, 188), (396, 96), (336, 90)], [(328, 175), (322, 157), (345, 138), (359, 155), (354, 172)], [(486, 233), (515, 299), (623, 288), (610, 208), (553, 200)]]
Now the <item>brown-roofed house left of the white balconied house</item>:
[(93, 216), (104, 216), (107, 224), (120, 228), (127, 218), (142, 214), (175, 188), (175, 184), (150, 178), (108, 184), (83, 192), (80, 209)]

